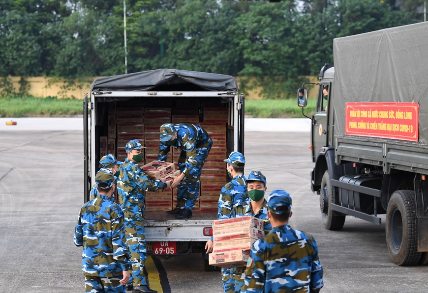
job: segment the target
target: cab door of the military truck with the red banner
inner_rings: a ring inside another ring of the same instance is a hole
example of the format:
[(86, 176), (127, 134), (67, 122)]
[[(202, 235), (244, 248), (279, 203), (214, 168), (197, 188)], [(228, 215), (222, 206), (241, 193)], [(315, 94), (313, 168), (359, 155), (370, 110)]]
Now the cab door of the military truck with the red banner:
[[(327, 95), (324, 95), (323, 88), (328, 88)], [(315, 114), (312, 119), (312, 158), (315, 162), (322, 147), (327, 146), (328, 139), (328, 102), (330, 100), (330, 82), (321, 82), (319, 85), (318, 98), (316, 102)]]

